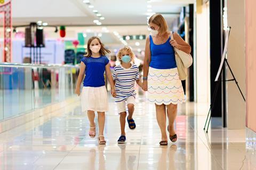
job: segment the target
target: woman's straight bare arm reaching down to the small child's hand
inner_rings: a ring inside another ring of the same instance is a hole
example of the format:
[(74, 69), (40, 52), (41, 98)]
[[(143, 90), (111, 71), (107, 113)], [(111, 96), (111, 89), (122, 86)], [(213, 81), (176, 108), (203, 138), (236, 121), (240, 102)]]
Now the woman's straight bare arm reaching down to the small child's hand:
[(144, 91), (148, 91), (148, 69), (149, 69), (149, 63), (151, 61), (151, 51), (150, 51), (150, 41), (149, 37), (147, 37), (146, 40), (146, 47), (145, 47), (145, 59), (143, 62), (143, 83), (142, 88)]

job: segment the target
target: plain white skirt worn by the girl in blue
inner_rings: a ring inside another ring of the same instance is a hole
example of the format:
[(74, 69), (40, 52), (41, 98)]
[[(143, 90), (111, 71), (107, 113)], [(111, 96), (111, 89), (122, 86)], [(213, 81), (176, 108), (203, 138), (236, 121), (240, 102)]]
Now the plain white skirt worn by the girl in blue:
[(108, 94), (106, 87), (83, 87), (81, 103), (82, 111), (108, 111)]

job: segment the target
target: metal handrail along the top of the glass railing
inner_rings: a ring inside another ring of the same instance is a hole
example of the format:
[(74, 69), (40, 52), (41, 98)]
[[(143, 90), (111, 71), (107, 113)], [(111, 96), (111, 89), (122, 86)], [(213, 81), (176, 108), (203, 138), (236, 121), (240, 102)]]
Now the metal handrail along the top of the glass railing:
[(19, 67), (19, 68), (34, 68), (34, 67), (38, 67), (38, 68), (60, 68), (60, 67), (64, 67), (64, 68), (79, 68), (79, 66), (73, 66), (73, 65), (68, 65), (68, 64), (30, 64), (30, 63), (9, 63), (9, 62), (0, 62), (0, 67)]

